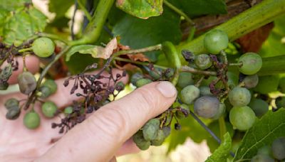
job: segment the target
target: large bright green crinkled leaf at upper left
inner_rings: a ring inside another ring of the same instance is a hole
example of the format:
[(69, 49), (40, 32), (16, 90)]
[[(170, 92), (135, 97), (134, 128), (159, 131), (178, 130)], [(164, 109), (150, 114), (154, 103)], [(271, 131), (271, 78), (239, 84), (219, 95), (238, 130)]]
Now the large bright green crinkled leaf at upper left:
[(20, 45), (23, 41), (41, 32), (46, 27), (46, 16), (33, 7), (17, 11), (4, 26), (4, 42)]

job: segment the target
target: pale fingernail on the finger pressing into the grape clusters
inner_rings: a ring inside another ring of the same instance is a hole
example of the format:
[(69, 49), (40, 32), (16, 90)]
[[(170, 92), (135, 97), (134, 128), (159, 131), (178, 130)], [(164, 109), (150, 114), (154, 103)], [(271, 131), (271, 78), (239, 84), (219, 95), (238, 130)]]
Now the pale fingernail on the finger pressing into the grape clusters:
[(177, 90), (171, 82), (162, 81), (156, 85), (156, 89), (167, 98), (175, 97)]

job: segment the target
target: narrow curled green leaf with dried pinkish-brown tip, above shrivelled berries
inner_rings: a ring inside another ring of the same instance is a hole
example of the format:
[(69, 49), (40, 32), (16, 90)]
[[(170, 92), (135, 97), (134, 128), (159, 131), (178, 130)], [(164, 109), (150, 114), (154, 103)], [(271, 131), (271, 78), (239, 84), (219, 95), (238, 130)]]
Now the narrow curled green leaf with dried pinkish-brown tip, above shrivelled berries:
[(70, 60), (71, 56), (75, 53), (90, 54), (93, 58), (110, 58), (113, 50), (118, 47), (117, 39), (113, 38), (105, 48), (99, 45), (76, 45), (73, 46), (68, 53), (66, 53), (66, 61)]

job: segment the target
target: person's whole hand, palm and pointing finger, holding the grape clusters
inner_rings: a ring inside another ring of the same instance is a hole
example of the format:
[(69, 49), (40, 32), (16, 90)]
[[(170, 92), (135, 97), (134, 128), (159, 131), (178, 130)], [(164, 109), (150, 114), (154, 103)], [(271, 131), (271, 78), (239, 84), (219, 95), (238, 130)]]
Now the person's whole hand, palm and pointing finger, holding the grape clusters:
[[(33, 58), (30, 62), (33, 65), (27, 62), (28, 69), (35, 69), (38, 61)], [(10, 82), (15, 82), (15, 79), (12, 76)], [(127, 82), (127, 78), (122, 81)], [(58, 107), (65, 107), (78, 99), (69, 95), (70, 89), (63, 87), (63, 79), (56, 82), (58, 91), (48, 100), (55, 102)], [(24, 127), (24, 113), (16, 121), (5, 119), (6, 99), (22, 99), (25, 96), (19, 93), (2, 95), (0, 158), (3, 161), (110, 161), (113, 156), (139, 151), (130, 137), (146, 121), (170, 107), (175, 101), (176, 93), (170, 82), (152, 82), (101, 107), (63, 136), (51, 129), (51, 123), (58, 122), (58, 118), (46, 119), (41, 115), (41, 126), (36, 130)]]

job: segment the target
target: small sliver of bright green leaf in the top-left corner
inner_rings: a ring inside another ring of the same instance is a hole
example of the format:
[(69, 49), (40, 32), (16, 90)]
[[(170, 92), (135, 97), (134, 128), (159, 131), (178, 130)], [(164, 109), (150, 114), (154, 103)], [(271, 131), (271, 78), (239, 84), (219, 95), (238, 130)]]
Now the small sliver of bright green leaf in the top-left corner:
[(15, 11), (22, 8), (25, 4), (31, 4), (31, 0), (0, 0), (0, 9)]

